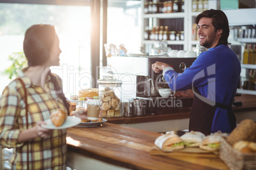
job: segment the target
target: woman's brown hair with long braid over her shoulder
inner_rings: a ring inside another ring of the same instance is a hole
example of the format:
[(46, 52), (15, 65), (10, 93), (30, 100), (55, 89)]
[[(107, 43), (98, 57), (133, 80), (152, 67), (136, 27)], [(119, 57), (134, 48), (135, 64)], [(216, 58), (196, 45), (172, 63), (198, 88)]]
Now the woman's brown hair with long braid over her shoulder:
[[(32, 25), (27, 29), (25, 32), (23, 49), (29, 67), (42, 65), (48, 60), (56, 37), (55, 35), (57, 34), (52, 25)], [(57, 95), (62, 99), (69, 115), (69, 103), (66, 100), (62, 88), (59, 86), (56, 77), (52, 75), (51, 72), (48, 74), (50, 75), (50, 80), (54, 85), (54, 89), (56, 91), (61, 90), (61, 93), (58, 93)]]

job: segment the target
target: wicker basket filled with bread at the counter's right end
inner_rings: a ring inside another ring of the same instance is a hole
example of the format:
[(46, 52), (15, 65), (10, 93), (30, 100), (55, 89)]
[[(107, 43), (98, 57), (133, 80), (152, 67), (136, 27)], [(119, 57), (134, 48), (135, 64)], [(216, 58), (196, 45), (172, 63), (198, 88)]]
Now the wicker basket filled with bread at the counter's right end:
[(256, 123), (245, 119), (221, 139), (220, 159), (231, 169), (256, 169), (255, 131)]

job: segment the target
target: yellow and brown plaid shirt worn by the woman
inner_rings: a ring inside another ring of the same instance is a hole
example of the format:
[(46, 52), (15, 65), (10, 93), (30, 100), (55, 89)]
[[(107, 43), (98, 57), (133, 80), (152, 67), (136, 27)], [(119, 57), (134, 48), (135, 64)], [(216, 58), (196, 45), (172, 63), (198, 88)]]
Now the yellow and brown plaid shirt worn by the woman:
[[(31, 83), (22, 70), (18, 77), (27, 89), (28, 124), (36, 126), (37, 121), (50, 119), (50, 113), (64, 107), (55, 94), (48, 93), (41, 86)], [(56, 75), (57, 76), (57, 75)], [(61, 84), (61, 79), (57, 77)], [(48, 89), (53, 89), (48, 75)], [(66, 129), (53, 130), (50, 137), (41, 137), (25, 143), (18, 143), (18, 134), (26, 128), (24, 89), (18, 80), (11, 81), (3, 91), (0, 101), (0, 142), (3, 147), (15, 148), (10, 162), (14, 169), (27, 169), (27, 147), (29, 147), (29, 169), (66, 169)]]

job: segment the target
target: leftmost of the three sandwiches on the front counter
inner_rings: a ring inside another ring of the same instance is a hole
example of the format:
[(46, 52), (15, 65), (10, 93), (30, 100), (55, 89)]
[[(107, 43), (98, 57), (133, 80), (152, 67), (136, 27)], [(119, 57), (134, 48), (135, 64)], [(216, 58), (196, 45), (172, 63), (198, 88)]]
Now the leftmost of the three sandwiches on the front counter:
[(184, 148), (183, 141), (177, 134), (163, 134), (155, 140), (155, 145), (164, 152)]

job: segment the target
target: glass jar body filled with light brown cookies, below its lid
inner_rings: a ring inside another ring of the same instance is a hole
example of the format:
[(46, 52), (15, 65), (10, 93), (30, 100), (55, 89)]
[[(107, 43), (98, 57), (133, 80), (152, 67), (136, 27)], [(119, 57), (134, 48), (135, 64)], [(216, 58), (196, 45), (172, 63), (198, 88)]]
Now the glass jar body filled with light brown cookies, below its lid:
[(120, 98), (115, 95), (115, 91), (111, 88), (104, 88), (99, 92), (101, 100), (101, 116), (102, 117), (120, 117), (122, 115)]

